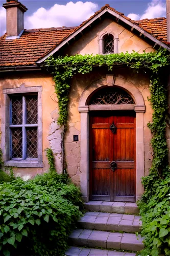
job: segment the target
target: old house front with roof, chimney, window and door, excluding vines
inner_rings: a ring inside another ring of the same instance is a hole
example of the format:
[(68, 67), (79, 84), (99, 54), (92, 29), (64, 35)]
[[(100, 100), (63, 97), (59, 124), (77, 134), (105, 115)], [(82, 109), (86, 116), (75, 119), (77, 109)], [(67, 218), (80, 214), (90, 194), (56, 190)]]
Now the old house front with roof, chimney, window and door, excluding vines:
[[(7, 166), (25, 179), (47, 172), (51, 147), (62, 173), (58, 100), (53, 76), (44, 69), (50, 56), (152, 52), (170, 49), (166, 18), (134, 21), (109, 5), (79, 27), (24, 29), (27, 8), (7, 1), (7, 33), (1, 37), (1, 148)], [(135, 202), (141, 177), (152, 164), (150, 77), (125, 67), (96, 67), (71, 80), (68, 129), (64, 139), (67, 173), (85, 201)], [(169, 93), (169, 85), (168, 85)], [(170, 143), (167, 124), (167, 143)], [(115, 169), (115, 170), (114, 170)]]

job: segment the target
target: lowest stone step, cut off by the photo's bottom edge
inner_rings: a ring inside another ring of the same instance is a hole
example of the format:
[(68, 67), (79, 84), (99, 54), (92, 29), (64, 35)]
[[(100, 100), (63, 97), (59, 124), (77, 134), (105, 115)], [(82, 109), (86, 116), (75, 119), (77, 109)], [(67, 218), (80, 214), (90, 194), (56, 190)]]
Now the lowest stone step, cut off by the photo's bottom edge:
[(89, 256), (135, 256), (136, 253), (71, 246), (65, 252), (65, 255), (67, 256), (88, 256), (88, 255)]

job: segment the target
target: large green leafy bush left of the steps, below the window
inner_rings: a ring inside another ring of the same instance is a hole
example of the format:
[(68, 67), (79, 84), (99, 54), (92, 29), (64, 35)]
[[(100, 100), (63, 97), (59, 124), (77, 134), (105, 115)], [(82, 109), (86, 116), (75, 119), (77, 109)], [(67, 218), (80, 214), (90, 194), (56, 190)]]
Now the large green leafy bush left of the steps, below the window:
[(62, 255), (81, 217), (79, 189), (50, 172), (0, 186), (0, 255)]

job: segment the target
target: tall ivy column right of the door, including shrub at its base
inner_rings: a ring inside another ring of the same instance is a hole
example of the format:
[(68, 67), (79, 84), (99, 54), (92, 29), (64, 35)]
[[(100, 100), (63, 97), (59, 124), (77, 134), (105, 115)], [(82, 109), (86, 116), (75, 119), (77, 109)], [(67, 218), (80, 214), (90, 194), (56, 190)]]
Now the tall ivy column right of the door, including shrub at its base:
[[(158, 57), (164, 60), (161, 53)], [(167, 92), (162, 66), (155, 66), (154, 73), (150, 85), (153, 122), (148, 124), (152, 133), (153, 161), (149, 176), (142, 180), (144, 194), (139, 203), (141, 234), (145, 238), (141, 256), (170, 255), (170, 167), (165, 137)]]

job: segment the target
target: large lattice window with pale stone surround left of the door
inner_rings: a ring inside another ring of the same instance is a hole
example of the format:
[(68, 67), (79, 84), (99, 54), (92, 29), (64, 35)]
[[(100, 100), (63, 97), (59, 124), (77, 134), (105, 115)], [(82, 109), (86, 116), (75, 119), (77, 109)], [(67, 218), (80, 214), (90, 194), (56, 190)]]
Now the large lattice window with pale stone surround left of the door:
[(42, 86), (3, 89), (2, 141), (6, 166), (43, 167)]

